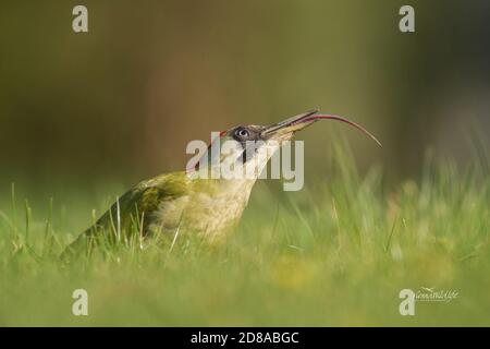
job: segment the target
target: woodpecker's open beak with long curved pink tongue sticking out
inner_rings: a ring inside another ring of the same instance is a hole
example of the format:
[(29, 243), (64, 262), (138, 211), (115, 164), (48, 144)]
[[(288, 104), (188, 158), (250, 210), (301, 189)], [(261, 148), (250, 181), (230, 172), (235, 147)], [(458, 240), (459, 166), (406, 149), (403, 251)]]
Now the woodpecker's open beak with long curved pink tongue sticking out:
[(284, 121), (274, 123), (270, 127), (266, 127), (262, 132), (262, 139), (282, 139), (284, 136), (290, 135), (290, 137), (297, 131), (303, 130), (310, 124), (315, 123), (318, 120), (321, 119), (331, 119), (331, 120), (338, 120), (345, 123), (348, 123), (350, 125), (358, 129), (366, 135), (368, 135), (370, 139), (372, 139), (376, 143), (378, 143), (379, 146), (381, 146), (381, 143), (365, 128), (363, 128), (360, 124), (357, 124), (351, 120), (347, 120), (343, 117), (333, 116), (333, 115), (319, 115), (318, 110), (311, 110), (308, 112), (301, 113), (298, 116), (289, 118)]

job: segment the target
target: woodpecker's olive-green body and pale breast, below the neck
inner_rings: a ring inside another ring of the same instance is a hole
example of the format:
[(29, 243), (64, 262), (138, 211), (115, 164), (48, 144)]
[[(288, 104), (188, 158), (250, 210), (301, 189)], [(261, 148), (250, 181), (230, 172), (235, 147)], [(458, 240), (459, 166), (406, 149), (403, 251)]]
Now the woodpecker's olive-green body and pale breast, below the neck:
[(63, 256), (140, 233), (192, 231), (219, 241), (246, 206), (254, 181), (189, 179), (184, 171), (142, 181), (122, 195)]

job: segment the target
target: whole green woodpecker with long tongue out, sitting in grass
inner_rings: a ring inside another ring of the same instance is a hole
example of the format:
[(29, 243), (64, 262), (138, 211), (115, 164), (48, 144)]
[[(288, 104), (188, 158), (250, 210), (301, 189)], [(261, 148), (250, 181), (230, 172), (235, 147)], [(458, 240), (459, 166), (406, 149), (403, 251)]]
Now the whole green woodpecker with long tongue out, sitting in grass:
[[(237, 226), (252, 189), (271, 156), (294, 134), (320, 119), (346, 122), (379, 141), (359, 124), (335, 115), (307, 111), (270, 125), (238, 125), (219, 133), (219, 157), (210, 156), (215, 141), (195, 166), (144, 180), (125, 194), (87, 230), (69, 244), (63, 258), (89, 251), (105, 241), (113, 244), (135, 233), (150, 237), (176, 231), (194, 233), (210, 243), (221, 243)], [(249, 144), (258, 144), (250, 148)], [(224, 145), (229, 145), (226, 152)], [(230, 144), (232, 145), (230, 147)], [(230, 151), (230, 148), (232, 151)], [(259, 156), (267, 149), (266, 156)], [(204, 159), (204, 160), (203, 160)], [(252, 176), (213, 178), (209, 176), (224, 163), (245, 168)]]

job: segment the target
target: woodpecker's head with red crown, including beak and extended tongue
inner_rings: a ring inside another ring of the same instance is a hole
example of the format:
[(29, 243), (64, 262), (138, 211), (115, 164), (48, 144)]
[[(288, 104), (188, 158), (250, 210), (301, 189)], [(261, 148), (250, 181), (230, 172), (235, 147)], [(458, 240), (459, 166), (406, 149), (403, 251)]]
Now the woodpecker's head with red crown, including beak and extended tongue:
[[(271, 125), (238, 125), (221, 131), (208, 147), (205, 157), (207, 169), (237, 169), (256, 179), (272, 155), (290, 141), (294, 134), (320, 119), (338, 120), (360, 130), (379, 145), (379, 141), (359, 124), (333, 115), (320, 115), (317, 110), (308, 111)], [(203, 170), (199, 166), (196, 169)], [(224, 176), (226, 178), (226, 176)], [(232, 177), (228, 178), (231, 179)]]

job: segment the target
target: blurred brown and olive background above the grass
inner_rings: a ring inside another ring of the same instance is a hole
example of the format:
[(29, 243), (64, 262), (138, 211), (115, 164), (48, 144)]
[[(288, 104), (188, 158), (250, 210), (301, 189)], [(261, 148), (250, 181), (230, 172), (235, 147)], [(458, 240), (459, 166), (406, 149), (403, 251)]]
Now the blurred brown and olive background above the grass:
[[(89, 33), (72, 31), (76, 4)], [(403, 4), (416, 33), (399, 31)], [(483, 0), (2, 1), (1, 192), (131, 185), (184, 168), (187, 142), (210, 131), (311, 108), (383, 148), (319, 123), (299, 134), (307, 180), (328, 170), (332, 132), (392, 181), (417, 174), (428, 147), (464, 163), (490, 131), (489, 23)]]

